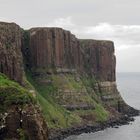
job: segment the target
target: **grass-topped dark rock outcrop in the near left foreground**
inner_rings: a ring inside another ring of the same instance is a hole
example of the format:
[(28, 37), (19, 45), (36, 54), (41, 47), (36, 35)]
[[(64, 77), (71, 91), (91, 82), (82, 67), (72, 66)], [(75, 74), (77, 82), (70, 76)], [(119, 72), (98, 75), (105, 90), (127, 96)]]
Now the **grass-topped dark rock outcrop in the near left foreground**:
[(29, 82), (23, 87), (0, 73), (0, 139), (47, 140), (47, 125), (31, 91)]

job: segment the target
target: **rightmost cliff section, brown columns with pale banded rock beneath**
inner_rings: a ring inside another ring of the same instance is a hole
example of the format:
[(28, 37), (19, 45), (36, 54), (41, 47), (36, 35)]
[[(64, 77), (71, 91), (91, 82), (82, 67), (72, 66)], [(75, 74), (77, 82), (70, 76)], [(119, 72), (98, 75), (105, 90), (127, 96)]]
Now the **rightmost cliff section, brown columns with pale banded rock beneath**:
[(118, 110), (118, 102), (125, 105), (117, 90), (114, 43), (103, 40), (79, 40), (84, 62), (83, 69), (96, 79), (95, 89), (101, 100)]

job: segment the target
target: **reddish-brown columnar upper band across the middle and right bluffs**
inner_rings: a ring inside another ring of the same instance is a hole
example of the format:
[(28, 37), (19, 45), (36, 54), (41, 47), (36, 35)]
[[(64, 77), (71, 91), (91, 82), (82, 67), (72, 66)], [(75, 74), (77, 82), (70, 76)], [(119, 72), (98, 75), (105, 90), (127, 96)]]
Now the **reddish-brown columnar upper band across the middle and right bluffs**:
[(111, 41), (79, 40), (61, 28), (30, 30), (30, 65), (60, 71), (78, 70), (100, 81), (115, 81), (114, 44)]

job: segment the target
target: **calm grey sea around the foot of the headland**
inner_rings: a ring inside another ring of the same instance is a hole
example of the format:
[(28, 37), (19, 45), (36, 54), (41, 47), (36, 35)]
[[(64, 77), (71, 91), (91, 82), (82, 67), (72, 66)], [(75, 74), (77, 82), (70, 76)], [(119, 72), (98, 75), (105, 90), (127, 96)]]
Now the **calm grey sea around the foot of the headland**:
[[(140, 110), (140, 73), (117, 73), (117, 85), (125, 102)], [(65, 140), (140, 140), (140, 117), (135, 117), (129, 125), (70, 136)]]

